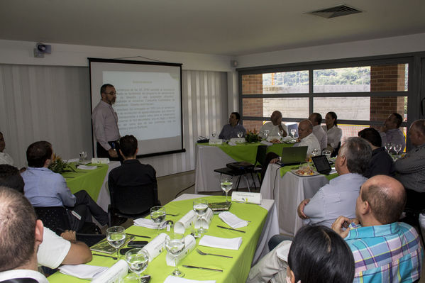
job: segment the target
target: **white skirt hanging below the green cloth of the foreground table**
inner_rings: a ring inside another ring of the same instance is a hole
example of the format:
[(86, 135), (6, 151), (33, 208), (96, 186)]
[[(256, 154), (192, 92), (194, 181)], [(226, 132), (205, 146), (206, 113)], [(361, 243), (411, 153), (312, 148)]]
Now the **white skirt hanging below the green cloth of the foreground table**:
[[(199, 197), (209, 196), (206, 194), (182, 194), (174, 199), (173, 201), (183, 201), (185, 199), (197, 199)], [(267, 245), (270, 238), (273, 235), (279, 233), (279, 223), (277, 223), (277, 211), (275, 206), (275, 201), (272, 199), (263, 199), (261, 201), (261, 207), (263, 209), (267, 209), (267, 218), (265, 219), (263, 231), (261, 231), (260, 238), (258, 239), (257, 248), (255, 250), (253, 262), (251, 264), (255, 265), (255, 263), (260, 260), (266, 253), (269, 252), (269, 247)]]

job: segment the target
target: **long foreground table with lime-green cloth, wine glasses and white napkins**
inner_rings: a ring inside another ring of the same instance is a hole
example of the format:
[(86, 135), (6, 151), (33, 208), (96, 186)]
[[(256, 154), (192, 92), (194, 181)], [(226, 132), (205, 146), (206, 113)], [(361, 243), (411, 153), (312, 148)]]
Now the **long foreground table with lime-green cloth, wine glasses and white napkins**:
[[(178, 221), (185, 213), (192, 210), (194, 198), (206, 198), (210, 202), (224, 201), (224, 196), (205, 196), (199, 194), (183, 194), (174, 201), (165, 205), (167, 213), (178, 214), (177, 216), (168, 216), (166, 220)], [(228, 255), (233, 258), (226, 257), (214, 257), (211, 255), (199, 255), (196, 250), (192, 250), (186, 257), (179, 262), (179, 268), (185, 273), (184, 278), (195, 279), (195, 280), (216, 280), (217, 283), (241, 283), (245, 282), (248, 277), (248, 273), (253, 262), (256, 262), (261, 256), (268, 252), (267, 241), (272, 235), (278, 232), (277, 227), (277, 214), (275, 209), (275, 201), (271, 199), (263, 199), (261, 205), (256, 204), (245, 204), (233, 202), (230, 211), (236, 216), (249, 220), (248, 226), (238, 228), (238, 230), (245, 231), (241, 233), (238, 231), (232, 231), (228, 229), (218, 228), (217, 225), (227, 226), (226, 223), (221, 221), (218, 215), (214, 215), (209, 226), (209, 230), (206, 235), (212, 235), (221, 238), (242, 238), (241, 246), (238, 250), (228, 250), (221, 248), (209, 248), (204, 246), (198, 246), (199, 239), (197, 239), (196, 248), (199, 248), (204, 253), (215, 253), (220, 255)], [(190, 233), (190, 228), (186, 229), (186, 233)], [(168, 233), (164, 230), (162, 233)], [(126, 229), (126, 233), (132, 233), (136, 235), (145, 235), (150, 237), (138, 238), (136, 240), (153, 240), (157, 235), (155, 229), (131, 226)], [(96, 252), (98, 253), (98, 252)], [(151, 283), (162, 283), (165, 278), (174, 270), (174, 267), (167, 266), (165, 263), (166, 251), (163, 251), (155, 257), (148, 264), (148, 268), (144, 274), (150, 274)], [(106, 255), (106, 254), (105, 254)], [(123, 256), (120, 256), (123, 259)], [(110, 267), (116, 263), (116, 260), (111, 257), (100, 257), (93, 255), (93, 259), (88, 265), (105, 266)], [(197, 270), (182, 267), (182, 265), (195, 265), (200, 267), (209, 267), (223, 272), (215, 272), (209, 270)], [(67, 282), (87, 282), (84, 279), (78, 279), (69, 275), (56, 272), (55, 274), (48, 277), (48, 281), (52, 283), (67, 283)], [(124, 280), (124, 282), (129, 282)], [(135, 281), (132, 281), (135, 282)]]

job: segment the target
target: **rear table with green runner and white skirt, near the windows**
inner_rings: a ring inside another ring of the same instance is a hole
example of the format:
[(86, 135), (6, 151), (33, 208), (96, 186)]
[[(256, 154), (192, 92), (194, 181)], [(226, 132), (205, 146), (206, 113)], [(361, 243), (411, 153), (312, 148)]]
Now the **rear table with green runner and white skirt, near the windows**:
[[(254, 164), (259, 145), (262, 145), (262, 143), (238, 143), (237, 145), (198, 143), (196, 147), (195, 193), (221, 191), (220, 173), (214, 172), (214, 170), (226, 167), (227, 163), (237, 161)], [(293, 146), (292, 143), (275, 143), (267, 146), (267, 153), (275, 152), (277, 155), (282, 155), (282, 148), (291, 146)], [(260, 187), (257, 178), (254, 178), (253, 182), (257, 187)], [(236, 182), (233, 182), (233, 188), (235, 187)], [(240, 187), (248, 187), (243, 178)], [(250, 184), (250, 188), (252, 187), (254, 187), (253, 184)]]

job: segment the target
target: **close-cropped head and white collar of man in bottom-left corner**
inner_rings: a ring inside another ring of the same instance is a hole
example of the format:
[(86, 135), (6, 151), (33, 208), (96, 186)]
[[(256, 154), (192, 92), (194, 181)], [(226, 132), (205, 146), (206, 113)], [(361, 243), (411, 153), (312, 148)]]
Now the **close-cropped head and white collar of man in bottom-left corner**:
[(14, 189), (0, 187), (0, 282), (48, 283), (37, 271), (42, 241), (43, 223), (28, 199)]

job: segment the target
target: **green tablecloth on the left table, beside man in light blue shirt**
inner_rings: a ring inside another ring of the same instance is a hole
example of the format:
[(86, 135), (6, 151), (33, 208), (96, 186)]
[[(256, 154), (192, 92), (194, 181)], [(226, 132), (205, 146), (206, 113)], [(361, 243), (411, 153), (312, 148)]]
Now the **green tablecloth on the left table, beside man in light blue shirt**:
[(94, 170), (76, 169), (75, 163), (72, 163), (71, 166), (74, 167), (77, 172), (64, 172), (62, 176), (65, 177), (67, 186), (70, 188), (72, 194), (84, 189), (92, 196), (94, 201), (97, 201), (102, 184), (104, 184), (106, 172), (108, 172), (108, 165), (92, 165), (97, 167)]

